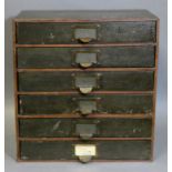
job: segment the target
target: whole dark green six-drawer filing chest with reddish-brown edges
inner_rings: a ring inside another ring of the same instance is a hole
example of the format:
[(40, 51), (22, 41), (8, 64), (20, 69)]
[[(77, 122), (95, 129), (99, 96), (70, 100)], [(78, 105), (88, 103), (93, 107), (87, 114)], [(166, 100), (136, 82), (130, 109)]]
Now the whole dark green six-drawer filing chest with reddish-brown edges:
[(145, 10), (21, 12), (18, 160), (152, 160), (158, 49), (159, 19)]

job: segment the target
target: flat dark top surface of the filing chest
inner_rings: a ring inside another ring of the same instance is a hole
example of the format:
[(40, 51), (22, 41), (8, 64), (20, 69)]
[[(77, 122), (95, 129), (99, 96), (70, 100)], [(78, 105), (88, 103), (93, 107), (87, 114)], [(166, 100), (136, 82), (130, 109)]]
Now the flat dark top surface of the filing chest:
[(68, 11), (22, 11), (16, 20), (156, 20), (146, 10), (68, 10)]

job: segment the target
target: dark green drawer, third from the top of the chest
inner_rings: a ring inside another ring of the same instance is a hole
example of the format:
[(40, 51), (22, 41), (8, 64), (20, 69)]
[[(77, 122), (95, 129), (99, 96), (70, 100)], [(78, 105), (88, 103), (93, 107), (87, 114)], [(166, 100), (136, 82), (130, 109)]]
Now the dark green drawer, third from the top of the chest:
[(19, 91), (151, 91), (153, 71), (19, 72)]

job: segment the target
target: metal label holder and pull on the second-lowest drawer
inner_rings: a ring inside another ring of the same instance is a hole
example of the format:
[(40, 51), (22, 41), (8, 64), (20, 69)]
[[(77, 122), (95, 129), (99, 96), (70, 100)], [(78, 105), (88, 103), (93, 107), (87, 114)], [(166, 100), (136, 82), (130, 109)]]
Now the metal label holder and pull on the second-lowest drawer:
[(82, 140), (89, 140), (97, 133), (95, 124), (77, 124), (75, 132)]

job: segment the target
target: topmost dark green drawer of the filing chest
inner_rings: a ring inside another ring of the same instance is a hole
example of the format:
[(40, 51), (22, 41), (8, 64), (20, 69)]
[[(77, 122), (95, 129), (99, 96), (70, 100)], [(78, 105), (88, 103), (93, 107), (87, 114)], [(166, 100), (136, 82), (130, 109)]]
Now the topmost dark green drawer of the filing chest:
[(155, 21), (53, 23), (18, 22), (17, 43), (155, 42)]

